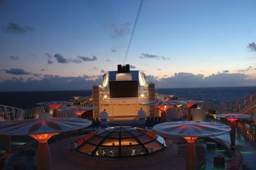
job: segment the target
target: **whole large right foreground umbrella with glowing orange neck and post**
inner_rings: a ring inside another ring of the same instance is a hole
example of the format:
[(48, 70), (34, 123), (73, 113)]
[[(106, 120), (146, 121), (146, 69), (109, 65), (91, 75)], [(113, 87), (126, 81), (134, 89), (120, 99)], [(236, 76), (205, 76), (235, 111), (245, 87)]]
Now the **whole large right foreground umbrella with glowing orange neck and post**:
[(182, 136), (187, 140), (186, 169), (196, 169), (195, 140), (200, 137), (218, 136), (230, 131), (227, 125), (212, 122), (180, 121), (165, 122), (153, 127), (161, 136)]

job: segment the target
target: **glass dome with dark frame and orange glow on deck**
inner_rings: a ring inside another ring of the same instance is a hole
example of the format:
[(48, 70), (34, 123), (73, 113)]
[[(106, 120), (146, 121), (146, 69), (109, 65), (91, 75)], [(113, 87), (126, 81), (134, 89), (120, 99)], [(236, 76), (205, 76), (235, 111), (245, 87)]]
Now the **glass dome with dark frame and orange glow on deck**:
[(137, 127), (109, 127), (81, 138), (76, 151), (97, 157), (131, 157), (166, 148), (161, 136)]

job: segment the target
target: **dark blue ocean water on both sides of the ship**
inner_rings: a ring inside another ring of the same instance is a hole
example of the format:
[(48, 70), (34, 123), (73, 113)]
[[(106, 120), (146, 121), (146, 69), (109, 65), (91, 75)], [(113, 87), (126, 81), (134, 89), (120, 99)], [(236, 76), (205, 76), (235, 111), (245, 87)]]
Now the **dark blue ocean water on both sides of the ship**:
[[(180, 88), (156, 89), (159, 94), (175, 95), (200, 101), (223, 103), (238, 97), (248, 96), (256, 87), (209, 87), (209, 88)], [(0, 105), (28, 109), (44, 101), (67, 101), (72, 96), (90, 96), (92, 90), (67, 90), (44, 92), (0, 92)]]

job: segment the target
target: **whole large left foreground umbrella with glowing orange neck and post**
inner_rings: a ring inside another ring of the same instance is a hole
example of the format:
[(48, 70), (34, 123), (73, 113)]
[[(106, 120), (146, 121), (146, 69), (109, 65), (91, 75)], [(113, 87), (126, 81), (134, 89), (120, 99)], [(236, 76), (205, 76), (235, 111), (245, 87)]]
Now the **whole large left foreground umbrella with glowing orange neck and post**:
[(37, 169), (51, 169), (48, 139), (67, 131), (76, 131), (91, 124), (81, 118), (38, 118), (4, 122), (0, 124), (1, 135), (29, 135), (38, 141), (35, 159)]

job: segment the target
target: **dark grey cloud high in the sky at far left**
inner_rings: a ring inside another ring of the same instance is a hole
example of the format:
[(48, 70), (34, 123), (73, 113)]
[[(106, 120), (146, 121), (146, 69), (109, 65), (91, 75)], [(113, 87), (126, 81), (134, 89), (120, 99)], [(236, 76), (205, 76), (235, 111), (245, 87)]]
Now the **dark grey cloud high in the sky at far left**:
[(9, 22), (6, 27), (3, 27), (2, 31), (6, 34), (25, 35), (29, 32), (35, 31), (35, 29), (28, 25), (21, 26), (19, 24)]

